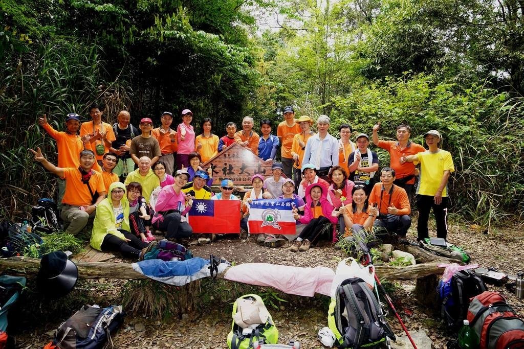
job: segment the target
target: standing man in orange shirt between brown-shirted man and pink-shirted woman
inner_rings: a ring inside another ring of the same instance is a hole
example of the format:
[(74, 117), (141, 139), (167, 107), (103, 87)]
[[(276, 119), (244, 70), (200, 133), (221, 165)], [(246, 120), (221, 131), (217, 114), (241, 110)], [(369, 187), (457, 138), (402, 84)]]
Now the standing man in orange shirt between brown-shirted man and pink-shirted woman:
[(151, 131), (153, 137), (158, 141), (160, 147), (160, 161), (164, 163), (166, 167), (166, 173), (168, 175), (173, 174), (174, 169), (174, 154), (177, 153), (177, 132), (171, 128), (173, 122), (173, 114), (169, 111), (162, 112), (160, 116), (160, 122), (162, 125)]

